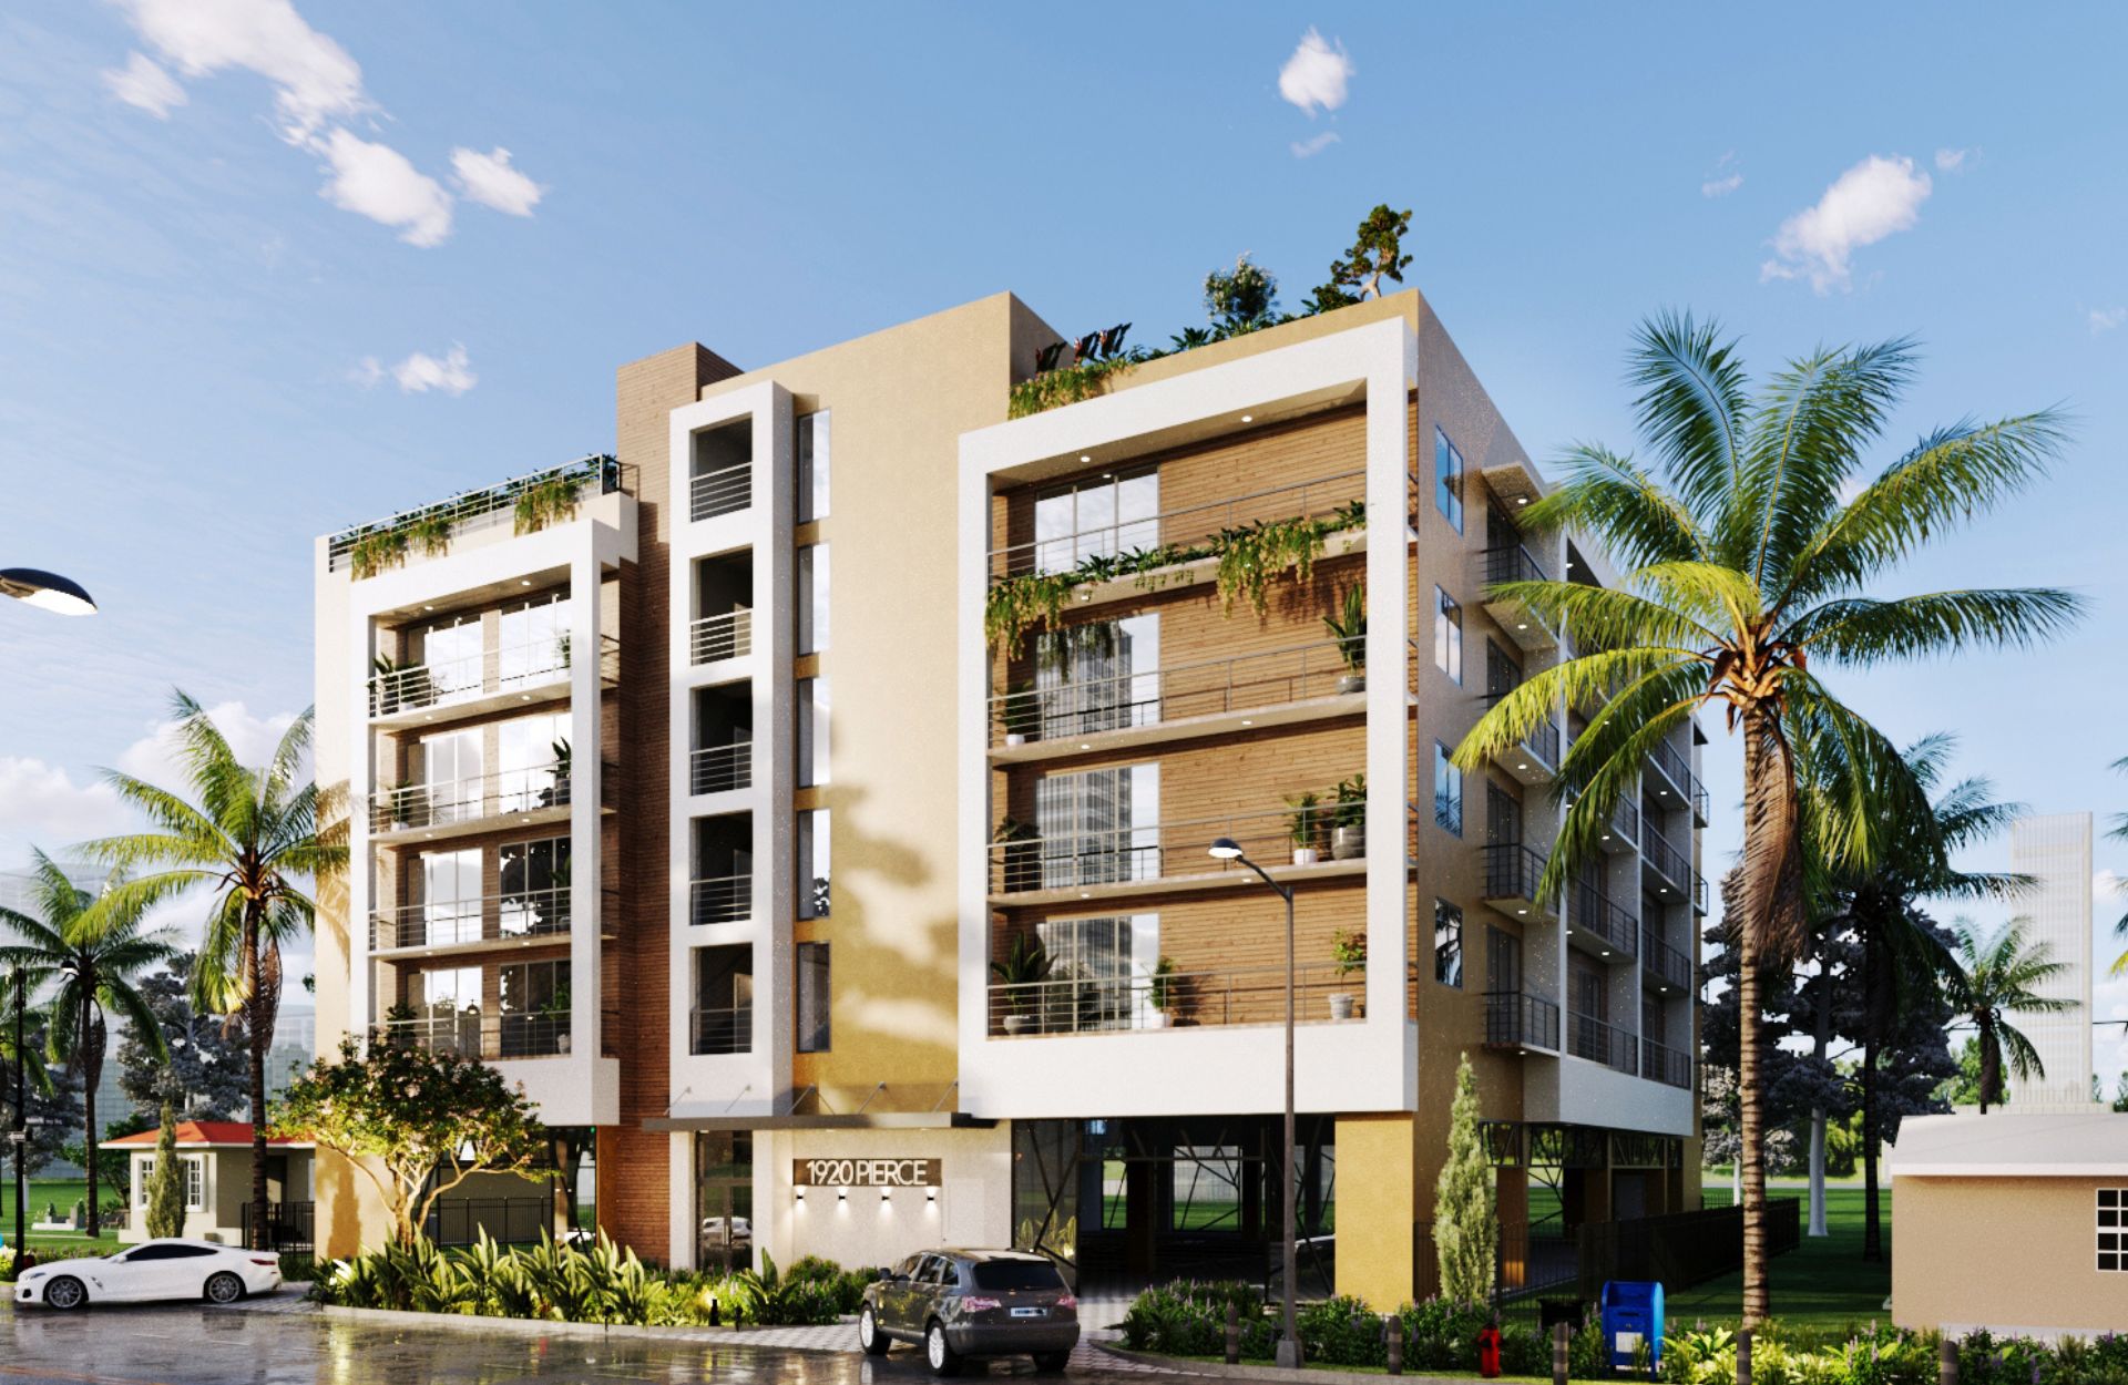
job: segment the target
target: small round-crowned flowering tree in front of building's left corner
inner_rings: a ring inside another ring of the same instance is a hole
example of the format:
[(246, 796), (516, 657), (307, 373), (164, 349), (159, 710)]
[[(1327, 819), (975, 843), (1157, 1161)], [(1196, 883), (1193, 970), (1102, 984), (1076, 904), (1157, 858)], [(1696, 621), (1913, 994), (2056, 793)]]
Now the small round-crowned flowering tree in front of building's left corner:
[[(287, 1089), (275, 1134), (347, 1155), (383, 1196), (392, 1234), (413, 1245), (436, 1200), (477, 1172), (523, 1172), (547, 1147), (523, 1087), (494, 1068), (411, 1042), (340, 1040)], [(434, 1177), (434, 1181), (430, 1181)]]

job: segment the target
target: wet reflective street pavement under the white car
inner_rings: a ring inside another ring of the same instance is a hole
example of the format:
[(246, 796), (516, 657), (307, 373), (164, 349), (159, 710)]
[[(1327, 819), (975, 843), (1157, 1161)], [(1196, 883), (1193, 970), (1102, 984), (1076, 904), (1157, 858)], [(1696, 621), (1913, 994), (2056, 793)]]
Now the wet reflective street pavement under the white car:
[[(292, 1306), (292, 1304), (287, 1304)], [(636, 1336), (534, 1336), (475, 1323), (400, 1328), (328, 1319), (319, 1313), (196, 1304), (106, 1306), (85, 1313), (0, 1308), (0, 1385), (372, 1385), (449, 1381), (728, 1381), (732, 1385), (919, 1385), (924, 1359), (898, 1347), (885, 1359), (858, 1353), (792, 1351), (762, 1345), (645, 1340)], [(464, 1321), (464, 1319), (460, 1319)], [(1081, 1345), (1073, 1381), (1130, 1381), (1141, 1372), (1100, 1368)], [(970, 1376), (979, 1376), (970, 1366)], [(994, 1374), (1032, 1376), (1026, 1362)], [(1053, 1379), (1053, 1376), (1047, 1376)], [(1168, 1376), (1170, 1381), (1187, 1376)]]

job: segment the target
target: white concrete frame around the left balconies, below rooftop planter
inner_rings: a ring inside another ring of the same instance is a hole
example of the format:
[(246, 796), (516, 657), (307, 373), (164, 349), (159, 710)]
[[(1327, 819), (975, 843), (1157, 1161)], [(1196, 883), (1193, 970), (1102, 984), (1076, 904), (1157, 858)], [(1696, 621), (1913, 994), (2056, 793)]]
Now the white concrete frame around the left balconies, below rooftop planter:
[[(483, 587), (502, 589), (509, 583), (568, 579), (570, 645), (589, 649), (594, 657), (570, 662), (568, 711), (570, 745), (592, 747), (570, 764), (568, 834), (570, 834), (570, 1051), (558, 1057), (513, 1059), (489, 1064), (509, 1081), (521, 1081), (526, 1096), (549, 1125), (613, 1125), (621, 1119), (621, 1066), (604, 1055), (600, 1042), (602, 949), (600, 889), (604, 842), (600, 804), (604, 796), (604, 755), (600, 738), (600, 668), (596, 651), (604, 647), (600, 617), (600, 583), (606, 572), (636, 562), (636, 502), (626, 494), (585, 498), (577, 517), (534, 534), (475, 538), (453, 543), (440, 557), (379, 572), (349, 583), (347, 619), (347, 689), (349, 740), (349, 862), (347, 872), (347, 1015), (355, 1030), (366, 1030), (370, 1017), (370, 983), (375, 964), (370, 938), (370, 887), (377, 879), (377, 847), (370, 840), (368, 798), (377, 787), (375, 736), (368, 717), (370, 662), (377, 657), (377, 632), (389, 619), (404, 621), (404, 611), (447, 602)], [(541, 708), (547, 711), (547, 708)], [(394, 734), (415, 734), (396, 728)], [(402, 849), (406, 849), (402, 845)], [(485, 953), (481, 960), (489, 960)]]

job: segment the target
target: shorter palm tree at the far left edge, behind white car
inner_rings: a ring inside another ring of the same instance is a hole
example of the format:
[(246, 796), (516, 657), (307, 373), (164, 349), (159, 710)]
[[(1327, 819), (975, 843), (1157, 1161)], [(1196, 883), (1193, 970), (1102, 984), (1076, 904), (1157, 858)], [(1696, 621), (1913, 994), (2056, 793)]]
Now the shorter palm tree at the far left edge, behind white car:
[(0, 966), (21, 968), (32, 991), (53, 985), (47, 1004), (45, 1034), (53, 1062), (81, 1072), (81, 1147), (89, 1174), (89, 1236), (102, 1234), (96, 1202), (96, 1083), (104, 1074), (109, 1032), (104, 1015), (117, 1011), (134, 1034), (157, 1055), (162, 1025), (147, 1006), (134, 981), (160, 966), (174, 947), (143, 923), (145, 900), (121, 887), (102, 896), (81, 889), (49, 855), (30, 857), (30, 902), (38, 915), (0, 908), (0, 923), (13, 928), (21, 942), (0, 947)]

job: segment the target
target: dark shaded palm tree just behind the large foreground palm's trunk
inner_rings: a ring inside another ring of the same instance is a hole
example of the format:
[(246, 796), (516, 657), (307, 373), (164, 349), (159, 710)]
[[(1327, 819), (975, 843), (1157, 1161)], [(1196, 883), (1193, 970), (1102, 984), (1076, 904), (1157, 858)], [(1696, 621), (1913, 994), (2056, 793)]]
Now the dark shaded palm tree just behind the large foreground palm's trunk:
[[(1924, 794), (1943, 781), (1958, 749), (1954, 736), (1924, 736), (1905, 751), (1907, 770)], [(1941, 932), (1919, 913), (1926, 898), (1988, 900), (2015, 894), (2026, 877), (1958, 870), (1951, 857), (2024, 813), (2024, 804), (1996, 802), (1988, 779), (1962, 779), (1932, 798), (1926, 815), (1890, 817), (1877, 828), (1877, 860), (1868, 870), (1830, 883), (1824, 934), (1853, 934), (1862, 951), (1862, 1257), (1883, 1259), (1883, 1217), (1877, 1189), (1877, 1057), (1905, 1006), (1930, 994), (1956, 970)], [(1830, 987), (1819, 1004), (1830, 1006)], [(1941, 1002), (1939, 1002), (1941, 1004)], [(1824, 1017), (1822, 1017), (1824, 1019)], [(1819, 1138), (1813, 1132), (1813, 1138)], [(1822, 1177), (1824, 1164), (1813, 1164)]]

